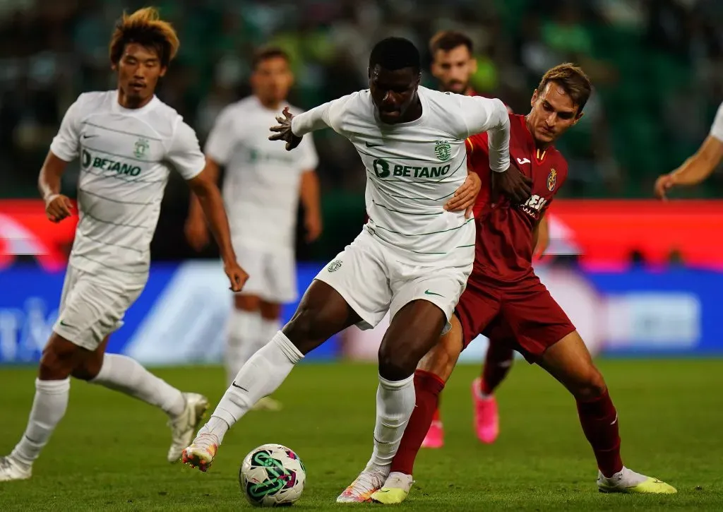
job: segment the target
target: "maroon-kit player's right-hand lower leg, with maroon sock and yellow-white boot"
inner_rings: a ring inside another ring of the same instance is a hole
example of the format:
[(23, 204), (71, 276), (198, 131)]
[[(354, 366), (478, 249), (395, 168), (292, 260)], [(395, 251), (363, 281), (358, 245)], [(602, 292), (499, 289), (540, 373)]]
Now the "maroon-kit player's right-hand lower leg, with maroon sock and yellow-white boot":
[(598, 464), (601, 492), (676, 492), (665, 482), (623, 466), (617, 411), (602, 374), (597, 370), (582, 338), (574, 331), (550, 346), (538, 364), (575, 396), (578, 416)]

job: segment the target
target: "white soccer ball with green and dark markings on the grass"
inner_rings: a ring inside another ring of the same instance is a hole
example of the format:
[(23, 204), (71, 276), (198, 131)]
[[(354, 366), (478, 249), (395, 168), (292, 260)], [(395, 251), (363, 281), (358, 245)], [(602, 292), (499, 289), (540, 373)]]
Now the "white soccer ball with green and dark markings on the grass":
[(261, 445), (244, 458), (239, 469), (241, 492), (252, 505), (291, 505), (301, 496), (307, 472), (294, 451), (283, 445)]

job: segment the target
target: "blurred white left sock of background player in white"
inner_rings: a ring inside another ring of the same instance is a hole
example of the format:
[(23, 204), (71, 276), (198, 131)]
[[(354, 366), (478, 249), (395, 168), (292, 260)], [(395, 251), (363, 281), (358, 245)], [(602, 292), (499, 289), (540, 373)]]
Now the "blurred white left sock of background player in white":
[(261, 338), (261, 315), (257, 311), (234, 310), (228, 317), (228, 331), (226, 334), (226, 364), (227, 385), (234, 382), (234, 377), (241, 367), (251, 359), (252, 355), (264, 344), (268, 343), (276, 330), (268, 338)]

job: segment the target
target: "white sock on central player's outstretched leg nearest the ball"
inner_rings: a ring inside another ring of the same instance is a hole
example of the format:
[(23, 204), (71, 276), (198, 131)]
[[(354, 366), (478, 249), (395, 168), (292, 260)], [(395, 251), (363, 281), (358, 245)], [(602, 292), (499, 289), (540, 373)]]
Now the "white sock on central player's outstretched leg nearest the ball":
[[(217, 436), (221, 443), (226, 431), (234, 426), (259, 398), (276, 391), (291, 373), (294, 364), (303, 357), (304, 354), (279, 330), (271, 341), (239, 370), (234, 382), (213, 411), (210, 421), (202, 427), (200, 433), (211, 433)], [(414, 405), (414, 387), (412, 403)]]

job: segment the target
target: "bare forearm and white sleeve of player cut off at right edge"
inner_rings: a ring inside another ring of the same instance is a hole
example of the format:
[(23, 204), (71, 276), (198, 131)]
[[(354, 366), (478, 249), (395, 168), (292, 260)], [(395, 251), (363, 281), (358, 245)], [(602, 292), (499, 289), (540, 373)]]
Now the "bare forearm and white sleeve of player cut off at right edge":
[(713, 174), (723, 161), (723, 103), (718, 107), (706, 140), (698, 151), (683, 164), (668, 174), (660, 176), (654, 187), (656, 197), (667, 199), (667, 192), (673, 187), (691, 187), (702, 183)]

